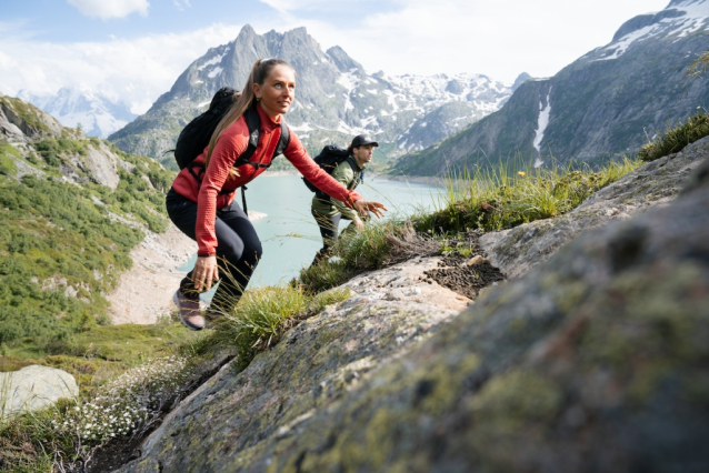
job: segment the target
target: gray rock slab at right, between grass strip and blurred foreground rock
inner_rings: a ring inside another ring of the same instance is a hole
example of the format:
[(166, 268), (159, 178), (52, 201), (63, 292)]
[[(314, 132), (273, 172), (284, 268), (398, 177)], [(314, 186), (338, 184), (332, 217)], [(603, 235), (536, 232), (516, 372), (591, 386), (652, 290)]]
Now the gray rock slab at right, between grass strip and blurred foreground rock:
[(547, 261), (583, 230), (668, 204), (708, 155), (709, 137), (682, 152), (642, 165), (565, 215), (486, 233), (480, 236), (480, 245), (493, 265), (508, 278), (517, 278)]

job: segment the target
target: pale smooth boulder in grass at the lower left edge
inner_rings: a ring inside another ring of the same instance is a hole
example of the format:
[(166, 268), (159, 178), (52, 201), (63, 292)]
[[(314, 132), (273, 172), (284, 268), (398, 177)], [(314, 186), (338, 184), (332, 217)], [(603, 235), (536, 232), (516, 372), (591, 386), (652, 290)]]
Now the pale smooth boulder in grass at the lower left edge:
[(73, 376), (56, 368), (33, 364), (0, 373), (0, 419), (22, 411), (37, 411), (60, 397), (78, 394), (79, 386)]

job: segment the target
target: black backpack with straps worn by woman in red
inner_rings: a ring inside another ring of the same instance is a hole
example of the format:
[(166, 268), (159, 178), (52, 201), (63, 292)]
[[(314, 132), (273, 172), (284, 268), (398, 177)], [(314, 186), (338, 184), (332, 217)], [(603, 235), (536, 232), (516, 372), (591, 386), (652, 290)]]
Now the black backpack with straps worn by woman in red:
[[(209, 140), (211, 140), (217, 125), (221, 121), (221, 119), (227, 114), (229, 109), (233, 103), (233, 94), (237, 93), (236, 89), (230, 87), (222, 87), (214, 93), (212, 97), (212, 101), (209, 104), (209, 109), (194, 118), (191, 122), (187, 124), (180, 132), (178, 137), (177, 144), (174, 145), (174, 160), (177, 161), (180, 169), (184, 169), (189, 167), (190, 174), (197, 179), (197, 181), (201, 182), (201, 174), (204, 172), (203, 164), (192, 164), (192, 162), (199, 157), (204, 148), (209, 144)], [(259, 117), (259, 112), (256, 108), (250, 108), (243, 113), (243, 118), (246, 119), (247, 127), (249, 128), (249, 145), (247, 150), (237, 159), (233, 167), (238, 168), (243, 164), (250, 164), (256, 168), (270, 168), (273, 163), (276, 157), (280, 155), (286, 151), (288, 143), (290, 142), (290, 132), (288, 127), (286, 125), (286, 121), (281, 119), (281, 138), (278, 141), (278, 145), (273, 151), (273, 157), (271, 162), (268, 164), (263, 164), (261, 162), (249, 161), (256, 151), (256, 148), (259, 144), (259, 129), (261, 127), (261, 118)], [(199, 172), (196, 174), (192, 170), (192, 167), (201, 168)], [(241, 199), (243, 203), (243, 211), (247, 212), (247, 203), (243, 191), (246, 190), (246, 185), (241, 188)], [(230, 194), (232, 190), (222, 190), (220, 193)]]

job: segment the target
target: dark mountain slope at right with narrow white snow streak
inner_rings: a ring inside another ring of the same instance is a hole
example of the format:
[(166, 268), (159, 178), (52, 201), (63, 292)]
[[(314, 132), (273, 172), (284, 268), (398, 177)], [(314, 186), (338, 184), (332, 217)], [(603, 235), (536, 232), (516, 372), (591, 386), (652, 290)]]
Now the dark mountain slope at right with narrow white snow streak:
[(709, 49), (709, 1), (673, 0), (623, 23), (613, 40), (549, 79), (528, 80), (497, 112), (420, 152), (395, 172), (439, 175), (480, 163), (598, 162), (637, 152), (657, 130), (709, 104), (690, 80)]

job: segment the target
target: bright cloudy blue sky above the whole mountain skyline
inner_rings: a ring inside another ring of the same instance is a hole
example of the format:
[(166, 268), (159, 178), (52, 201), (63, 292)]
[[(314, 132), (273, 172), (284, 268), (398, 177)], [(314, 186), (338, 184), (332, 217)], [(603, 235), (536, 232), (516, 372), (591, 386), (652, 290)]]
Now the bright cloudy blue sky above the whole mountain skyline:
[(0, 91), (101, 90), (144, 112), (190, 62), (234, 39), (304, 26), (389, 74), (548, 77), (669, 0), (3, 0)]

